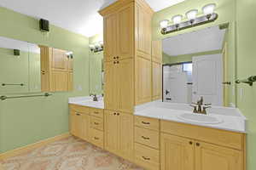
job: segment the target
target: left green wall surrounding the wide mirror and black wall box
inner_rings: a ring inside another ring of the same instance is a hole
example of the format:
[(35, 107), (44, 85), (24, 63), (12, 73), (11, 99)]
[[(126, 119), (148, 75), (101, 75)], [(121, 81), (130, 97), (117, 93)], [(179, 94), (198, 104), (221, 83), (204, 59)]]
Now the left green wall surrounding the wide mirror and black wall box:
[[(68, 97), (89, 94), (89, 39), (56, 26), (50, 26), (50, 32), (43, 33), (38, 31), (38, 20), (6, 8), (0, 8), (0, 20), (1, 37), (74, 53), (72, 93), (0, 101), (0, 152), (4, 152), (68, 132)], [(80, 91), (79, 86), (82, 88)]]

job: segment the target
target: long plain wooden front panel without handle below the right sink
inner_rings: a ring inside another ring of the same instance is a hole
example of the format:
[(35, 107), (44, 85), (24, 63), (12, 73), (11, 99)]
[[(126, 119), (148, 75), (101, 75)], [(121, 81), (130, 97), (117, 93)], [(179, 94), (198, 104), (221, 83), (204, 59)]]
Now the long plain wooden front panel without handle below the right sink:
[(218, 144), (243, 150), (243, 133), (234, 133), (210, 127), (200, 127), (179, 122), (161, 121), (161, 132), (170, 133), (190, 139), (197, 139), (211, 144)]

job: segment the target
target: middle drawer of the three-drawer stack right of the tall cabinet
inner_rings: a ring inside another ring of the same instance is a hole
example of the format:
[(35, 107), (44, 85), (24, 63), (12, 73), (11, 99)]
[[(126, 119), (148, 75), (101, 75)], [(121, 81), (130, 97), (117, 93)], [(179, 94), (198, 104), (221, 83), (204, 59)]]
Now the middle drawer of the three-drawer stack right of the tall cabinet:
[(160, 149), (160, 133), (156, 131), (135, 127), (135, 141), (155, 149)]

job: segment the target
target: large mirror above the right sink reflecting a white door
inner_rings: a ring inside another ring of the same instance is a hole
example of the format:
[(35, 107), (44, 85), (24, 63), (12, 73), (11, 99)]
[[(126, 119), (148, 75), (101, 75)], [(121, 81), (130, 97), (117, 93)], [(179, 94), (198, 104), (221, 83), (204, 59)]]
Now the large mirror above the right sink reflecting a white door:
[(162, 40), (163, 101), (236, 105), (232, 32), (213, 26)]

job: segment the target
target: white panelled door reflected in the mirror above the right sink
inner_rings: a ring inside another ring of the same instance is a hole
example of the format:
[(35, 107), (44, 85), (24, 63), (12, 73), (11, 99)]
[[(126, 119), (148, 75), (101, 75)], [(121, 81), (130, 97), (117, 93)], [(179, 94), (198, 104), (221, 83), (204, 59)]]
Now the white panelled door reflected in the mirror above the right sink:
[(223, 105), (222, 54), (193, 57), (193, 102), (201, 96), (204, 103)]

